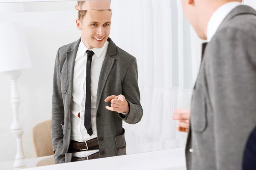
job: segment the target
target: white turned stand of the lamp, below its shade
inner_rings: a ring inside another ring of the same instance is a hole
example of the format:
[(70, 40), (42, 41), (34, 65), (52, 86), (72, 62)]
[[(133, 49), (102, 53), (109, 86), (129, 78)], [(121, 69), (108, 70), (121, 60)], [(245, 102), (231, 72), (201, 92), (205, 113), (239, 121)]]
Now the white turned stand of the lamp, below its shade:
[(17, 139), (17, 152), (15, 156), (15, 162), (13, 166), (15, 169), (23, 169), (25, 168), (24, 162), (24, 152), (23, 152), (23, 144), (22, 144), (22, 134), (23, 129), (19, 122), (19, 106), (20, 106), (20, 94), (18, 92), (17, 80), (20, 77), (21, 70), (17, 71), (6, 71), (5, 74), (9, 75), (11, 79), (11, 105), (12, 105), (12, 112), (13, 112), (13, 123), (11, 125), (11, 130), (14, 133)]

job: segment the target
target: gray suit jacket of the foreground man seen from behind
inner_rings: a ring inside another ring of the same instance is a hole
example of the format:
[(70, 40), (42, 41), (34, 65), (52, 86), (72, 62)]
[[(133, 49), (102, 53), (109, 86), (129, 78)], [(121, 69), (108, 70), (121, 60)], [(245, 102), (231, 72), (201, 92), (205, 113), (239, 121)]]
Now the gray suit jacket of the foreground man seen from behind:
[(187, 170), (241, 170), (255, 103), (256, 11), (238, 6), (204, 51), (192, 94)]

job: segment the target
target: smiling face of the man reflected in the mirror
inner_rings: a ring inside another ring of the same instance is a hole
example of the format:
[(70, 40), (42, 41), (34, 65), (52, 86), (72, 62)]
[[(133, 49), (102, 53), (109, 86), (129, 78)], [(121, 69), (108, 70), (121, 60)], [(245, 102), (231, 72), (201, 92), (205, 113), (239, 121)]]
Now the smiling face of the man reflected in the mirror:
[(88, 10), (82, 21), (78, 20), (82, 40), (87, 48), (102, 48), (111, 29), (111, 11)]

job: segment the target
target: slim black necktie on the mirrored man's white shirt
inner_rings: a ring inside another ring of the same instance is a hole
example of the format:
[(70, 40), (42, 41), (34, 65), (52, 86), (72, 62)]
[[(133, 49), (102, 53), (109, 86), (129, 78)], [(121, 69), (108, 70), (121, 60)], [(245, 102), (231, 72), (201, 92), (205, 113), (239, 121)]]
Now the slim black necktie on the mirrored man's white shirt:
[(85, 95), (85, 110), (84, 110), (84, 127), (87, 133), (92, 136), (92, 122), (91, 122), (91, 112), (92, 112), (92, 102), (91, 102), (91, 91), (90, 91), (90, 66), (92, 64), (93, 51), (87, 50), (87, 62), (86, 62), (86, 95)]

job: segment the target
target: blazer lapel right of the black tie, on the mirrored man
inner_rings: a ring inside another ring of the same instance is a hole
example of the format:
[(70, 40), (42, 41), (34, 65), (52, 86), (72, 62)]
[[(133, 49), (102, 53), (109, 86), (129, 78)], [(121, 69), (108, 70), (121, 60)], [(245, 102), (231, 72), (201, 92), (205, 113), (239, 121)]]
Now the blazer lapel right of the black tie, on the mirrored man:
[(111, 56), (116, 55), (116, 45), (111, 40), (111, 38), (108, 38), (109, 44), (108, 44), (108, 50), (107, 54), (105, 56), (105, 59), (102, 64), (101, 72), (99, 75), (99, 82), (98, 82), (98, 91), (97, 91), (97, 101), (96, 101), (96, 111), (98, 111), (99, 108), (99, 100), (102, 97), (102, 92), (105, 87), (106, 81), (108, 79), (108, 75), (113, 67), (115, 59)]

